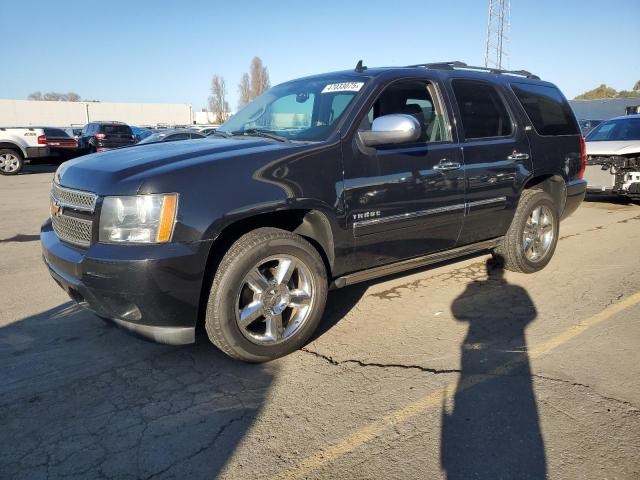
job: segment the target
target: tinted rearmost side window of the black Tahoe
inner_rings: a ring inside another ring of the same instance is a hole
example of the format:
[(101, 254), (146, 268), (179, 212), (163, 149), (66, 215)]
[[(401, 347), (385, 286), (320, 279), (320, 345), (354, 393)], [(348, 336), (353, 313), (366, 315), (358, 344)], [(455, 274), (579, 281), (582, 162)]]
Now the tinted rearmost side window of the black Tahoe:
[(539, 135), (580, 133), (569, 102), (556, 87), (512, 83), (511, 88)]

